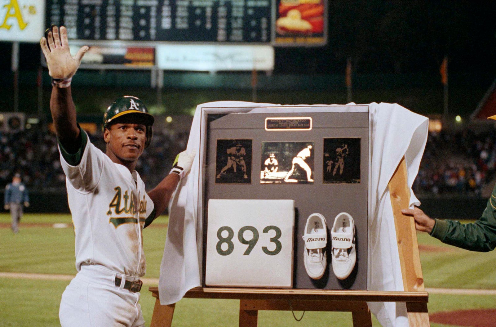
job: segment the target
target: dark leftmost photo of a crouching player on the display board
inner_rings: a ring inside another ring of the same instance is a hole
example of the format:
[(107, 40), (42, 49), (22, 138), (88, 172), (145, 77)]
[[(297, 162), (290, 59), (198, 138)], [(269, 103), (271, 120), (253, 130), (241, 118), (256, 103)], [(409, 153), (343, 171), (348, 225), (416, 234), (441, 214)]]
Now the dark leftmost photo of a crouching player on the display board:
[(251, 183), (251, 139), (217, 139), (215, 184)]

